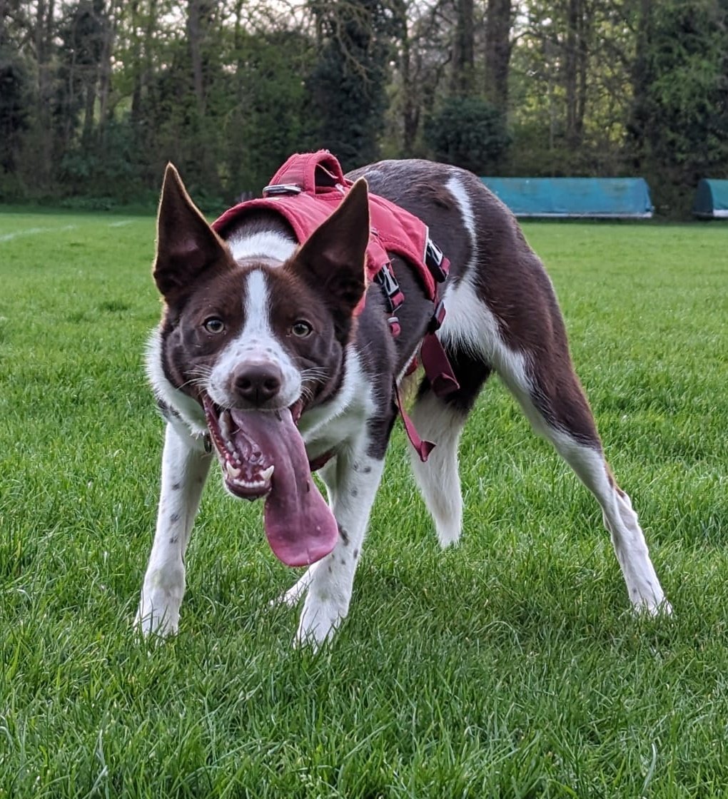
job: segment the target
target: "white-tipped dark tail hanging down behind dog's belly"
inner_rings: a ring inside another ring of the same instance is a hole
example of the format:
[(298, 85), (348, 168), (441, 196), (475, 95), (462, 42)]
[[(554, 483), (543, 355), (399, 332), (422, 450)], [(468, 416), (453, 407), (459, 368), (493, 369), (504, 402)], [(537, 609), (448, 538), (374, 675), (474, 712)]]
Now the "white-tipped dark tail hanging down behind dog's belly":
[(458, 542), (463, 523), (458, 444), (460, 433), (480, 388), (490, 374), (482, 359), (448, 350), (448, 360), (460, 384), (458, 391), (438, 397), (425, 377), (412, 407), (418, 433), (436, 444), (426, 463), (410, 449), (412, 471), (428, 511), (435, 521), (440, 546)]

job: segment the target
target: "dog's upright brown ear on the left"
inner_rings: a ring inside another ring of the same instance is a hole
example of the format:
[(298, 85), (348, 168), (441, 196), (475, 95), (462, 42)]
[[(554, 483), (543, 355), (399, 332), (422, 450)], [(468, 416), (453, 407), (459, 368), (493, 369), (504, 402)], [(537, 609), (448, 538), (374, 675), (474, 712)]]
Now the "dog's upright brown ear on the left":
[(225, 260), (221, 238), (189, 198), (177, 169), (167, 165), (157, 213), (153, 276), (165, 299), (174, 299), (216, 261)]

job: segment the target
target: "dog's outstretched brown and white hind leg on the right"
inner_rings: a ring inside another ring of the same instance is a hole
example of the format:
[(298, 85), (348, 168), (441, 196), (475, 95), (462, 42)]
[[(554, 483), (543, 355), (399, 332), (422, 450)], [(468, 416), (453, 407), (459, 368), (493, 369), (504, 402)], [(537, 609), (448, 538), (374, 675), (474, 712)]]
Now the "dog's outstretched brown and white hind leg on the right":
[[(483, 286), (466, 277), (446, 296), (448, 317), (441, 337), (479, 352), (519, 401), (534, 430), (595, 495), (637, 610), (670, 611), (654, 572), (645, 537), (630, 498), (617, 485), (603, 455), (591, 409), (571, 366), (566, 331), (551, 283), (538, 259), (523, 251), (523, 275), (513, 288), (500, 285), (495, 316)], [(491, 287), (491, 293), (496, 288)], [(511, 292), (510, 294), (507, 292)]]

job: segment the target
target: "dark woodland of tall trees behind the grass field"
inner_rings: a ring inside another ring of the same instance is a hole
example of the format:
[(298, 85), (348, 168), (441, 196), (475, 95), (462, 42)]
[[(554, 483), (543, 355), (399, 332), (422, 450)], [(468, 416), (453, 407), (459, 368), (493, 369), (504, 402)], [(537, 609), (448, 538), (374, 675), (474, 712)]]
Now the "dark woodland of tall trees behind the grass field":
[(288, 154), (728, 177), (728, 0), (0, 0), (0, 199), (206, 209)]

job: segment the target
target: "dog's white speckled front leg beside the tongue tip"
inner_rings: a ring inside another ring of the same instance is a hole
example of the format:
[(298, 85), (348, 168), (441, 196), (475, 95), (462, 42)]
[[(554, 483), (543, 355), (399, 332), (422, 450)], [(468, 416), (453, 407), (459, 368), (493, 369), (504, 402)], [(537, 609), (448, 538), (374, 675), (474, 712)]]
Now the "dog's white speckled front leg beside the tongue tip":
[(373, 458), (366, 453), (365, 442), (352, 450), (340, 451), (336, 469), (329, 469), (325, 475), (327, 483), (334, 482), (330, 495), (339, 525), (339, 541), (331, 555), (316, 563), (315, 570), (308, 573), (310, 585), (296, 645), (308, 644), (317, 649), (332, 637), (348, 613), (354, 572), (384, 469), (384, 458)]

